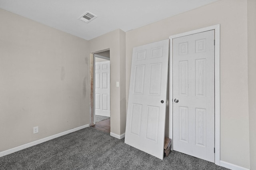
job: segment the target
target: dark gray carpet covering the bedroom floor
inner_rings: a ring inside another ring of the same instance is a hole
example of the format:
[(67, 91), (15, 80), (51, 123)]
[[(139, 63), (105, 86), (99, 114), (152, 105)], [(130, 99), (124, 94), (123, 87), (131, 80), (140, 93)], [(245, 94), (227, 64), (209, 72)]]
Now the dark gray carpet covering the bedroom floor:
[(0, 157), (1, 170), (224, 170), (180, 152), (160, 160), (88, 127)]

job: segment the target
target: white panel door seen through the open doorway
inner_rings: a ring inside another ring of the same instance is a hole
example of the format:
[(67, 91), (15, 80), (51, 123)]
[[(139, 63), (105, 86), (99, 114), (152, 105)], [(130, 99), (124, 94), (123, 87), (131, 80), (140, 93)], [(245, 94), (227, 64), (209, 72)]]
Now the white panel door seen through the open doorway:
[(95, 115), (110, 117), (110, 61), (95, 63)]

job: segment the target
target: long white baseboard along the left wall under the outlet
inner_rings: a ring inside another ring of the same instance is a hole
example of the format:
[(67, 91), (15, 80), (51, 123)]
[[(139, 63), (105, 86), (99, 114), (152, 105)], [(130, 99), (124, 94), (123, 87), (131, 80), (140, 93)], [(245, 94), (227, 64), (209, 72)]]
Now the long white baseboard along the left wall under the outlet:
[(8, 154), (11, 154), (11, 153), (14, 153), (14, 152), (17, 152), (19, 150), (22, 150), (22, 149), (25, 149), (25, 148), (28, 148), (28, 147), (31, 147), (31, 146), (34, 146), (34, 145), (37, 145), (37, 144), (40, 144), (42, 142), (46, 142), (48, 140), (51, 140), (51, 139), (54, 139), (54, 138), (58, 138), (60, 136), (63, 136), (65, 134), (69, 134), (71, 132), (75, 132), (77, 130), (81, 130), (83, 128), (86, 128), (86, 127), (89, 127), (90, 124), (87, 124), (87, 125), (83, 125), (83, 126), (80, 126), (80, 127), (77, 127), (77, 128), (72, 128), (70, 130), (67, 130), (65, 132), (60, 132), (58, 134), (54, 134), (52, 136), (48, 136), (46, 138), (42, 138), (42, 139), (39, 139), (39, 140), (36, 140), (36, 141), (33, 141), (33, 142), (29, 142), (29, 143), (26, 143), (26, 144), (23, 144), (23, 145), (20, 145), (20, 146), (17, 146), (15, 148), (11, 148), (11, 149), (8, 149), (8, 150), (4, 150), (2, 152), (0, 152), (0, 157), (2, 156), (5, 156), (5, 155), (8, 155)]

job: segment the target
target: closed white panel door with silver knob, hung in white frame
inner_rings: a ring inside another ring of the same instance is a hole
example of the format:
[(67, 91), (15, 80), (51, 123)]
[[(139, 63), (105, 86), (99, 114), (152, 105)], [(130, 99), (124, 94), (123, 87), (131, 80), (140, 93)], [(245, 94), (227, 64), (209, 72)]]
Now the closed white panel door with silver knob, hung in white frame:
[(173, 39), (173, 150), (214, 162), (214, 30)]

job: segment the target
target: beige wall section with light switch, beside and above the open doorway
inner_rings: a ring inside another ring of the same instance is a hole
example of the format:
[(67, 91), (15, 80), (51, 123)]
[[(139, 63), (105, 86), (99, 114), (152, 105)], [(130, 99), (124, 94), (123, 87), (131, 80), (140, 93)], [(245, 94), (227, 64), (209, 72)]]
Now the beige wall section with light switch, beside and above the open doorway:
[[(121, 135), (125, 132), (126, 83), (125, 83), (125, 32), (115, 30), (94, 38), (90, 52), (110, 50), (110, 131)], [(116, 82), (119, 87), (116, 87)]]

